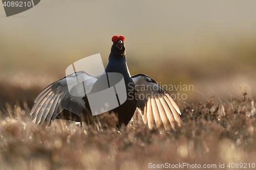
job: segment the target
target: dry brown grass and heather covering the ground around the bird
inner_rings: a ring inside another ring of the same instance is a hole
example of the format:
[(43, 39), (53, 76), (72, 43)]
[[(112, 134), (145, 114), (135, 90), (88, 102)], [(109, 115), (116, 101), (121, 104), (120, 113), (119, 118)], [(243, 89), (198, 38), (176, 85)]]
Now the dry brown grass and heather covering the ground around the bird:
[(232, 162), (256, 163), (252, 99), (243, 93), (232, 103), (213, 101), (182, 109), (183, 124), (176, 132), (155, 127), (150, 131), (138, 115), (120, 131), (62, 120), (39, 127), (31, 122), (26, 103), (24, 107), (7, 104), (0, 117), (0, 168), (149, 169), (148, 163), (216, 164), (219, 168), (225, 163), (227, 169)]

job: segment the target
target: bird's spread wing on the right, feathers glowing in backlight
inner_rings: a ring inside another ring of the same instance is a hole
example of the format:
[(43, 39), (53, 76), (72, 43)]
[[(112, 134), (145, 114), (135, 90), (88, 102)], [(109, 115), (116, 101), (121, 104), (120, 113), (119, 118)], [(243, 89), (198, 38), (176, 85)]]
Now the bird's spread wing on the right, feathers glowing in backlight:
[(181, 126), (180, 108), (166, 90), (144, 74), (137, 74), (132, 78), (138, 95), (138, 110), (144, 123), (148, 122), (150, 129), (153, 127), (154, 119), (157, 127), (163, 124), (165, 128), (169, 128), (170, 123), (172, 128), (176, 130), (175, 122)]

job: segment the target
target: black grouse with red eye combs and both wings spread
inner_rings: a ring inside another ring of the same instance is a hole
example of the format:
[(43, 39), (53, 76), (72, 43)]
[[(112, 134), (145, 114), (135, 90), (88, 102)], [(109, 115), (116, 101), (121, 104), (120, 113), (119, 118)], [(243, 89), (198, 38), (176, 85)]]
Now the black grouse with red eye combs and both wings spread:
[[(150, 130), (153, 129), (154, 122), (157, 128), (163, 125), (166, 129), (171, 126), (176, 130), (177, 124), (181, 126), (181, 110), (177, 102), (151, 77), (144, 74), (130, 75), (126, 63), (124, 41), (125, 37), (123, 35), (112, 37), (113, 44), (109, 62), (104, 71), (105, 74), (111, 72), (121, 74), (126, 88), (127, 99), (125, 102), (110, 110), (118, 118), (116, 127), (120, 128), (122, 124), (127, 126), (135, 112), (139, 112), (144, 124), (147, 123)], [(39, 93), (31, 109), (32, 121), (36, 125), (50, 126), (56, 118), (69, 120), (70, 113), (78, 122), (90, 123), (91, 118), (97, 117), (92, 115), (88, 94), (84, 96), (70, 94), (67, 82), (79, 76), (90, 79), (85, 84), (85, 88), (93, 93), (94, 89), (101, 85), (104, 75), (102, 74), (97, 78), (85, 71), (78, 71), (47, 86)], [(67, 111), (69, 112), (67, 113)], [(62, 113), (62, 116), (60, 116), (60, 113)]]

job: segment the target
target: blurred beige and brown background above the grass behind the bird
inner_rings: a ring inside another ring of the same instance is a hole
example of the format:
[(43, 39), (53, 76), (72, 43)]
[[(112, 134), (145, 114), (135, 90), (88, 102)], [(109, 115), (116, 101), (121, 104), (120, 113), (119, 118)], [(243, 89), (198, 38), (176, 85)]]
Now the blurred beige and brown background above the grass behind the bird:
[[(240, 98), (240, 87), (255, 99), (255, 9), (256, 1), (234, 0), (43, 0), (6, 17), (2, 6), (0, 109), (24, 101), (31, 107), (81, 58), (100, 53), (106, 66), (115, 34), (126, 37), (131, 75), (167, 85), (181, 106), (216, 95)], [(178, 85), (182, 89), (169, 88)], [(183, 89), (189, 85), (194, 88)]]

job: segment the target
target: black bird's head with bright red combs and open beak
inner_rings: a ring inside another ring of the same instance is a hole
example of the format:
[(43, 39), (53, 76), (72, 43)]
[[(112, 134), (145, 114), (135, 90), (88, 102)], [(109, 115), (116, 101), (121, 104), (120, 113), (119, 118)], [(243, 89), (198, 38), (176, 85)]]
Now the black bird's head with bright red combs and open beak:
[(125, 56), (125, 46), (124, 46), (125, 37), (123, 35), (114, 35), (112, 37), (113, 45), (111, 47), (111, 53), (117, 57)]

